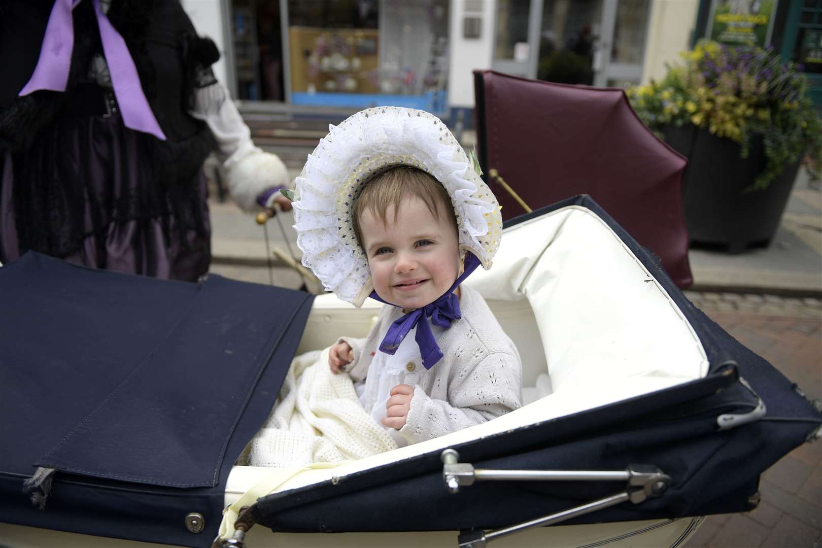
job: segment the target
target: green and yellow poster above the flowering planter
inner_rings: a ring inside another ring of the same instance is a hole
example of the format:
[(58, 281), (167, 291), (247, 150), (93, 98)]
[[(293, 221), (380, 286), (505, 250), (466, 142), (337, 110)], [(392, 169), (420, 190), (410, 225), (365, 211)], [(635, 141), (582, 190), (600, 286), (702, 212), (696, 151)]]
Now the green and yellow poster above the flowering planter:
[(708, 37), (729, 46), (770, 43), (777, 0), (713, 0)]

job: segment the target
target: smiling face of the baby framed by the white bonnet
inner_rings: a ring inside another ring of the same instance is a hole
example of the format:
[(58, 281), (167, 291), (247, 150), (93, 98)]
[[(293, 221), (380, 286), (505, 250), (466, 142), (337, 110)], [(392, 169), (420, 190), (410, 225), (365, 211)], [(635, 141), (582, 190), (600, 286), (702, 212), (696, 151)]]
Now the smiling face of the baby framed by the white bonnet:
[(441, 211), (437, 219), (423, 200), (406, 196), (387, 223), (364, 211), (360, 230), (374, 289), (384, 301), (406, 309), (434, 302), (457, 279), (459, 245), (454, 227)]

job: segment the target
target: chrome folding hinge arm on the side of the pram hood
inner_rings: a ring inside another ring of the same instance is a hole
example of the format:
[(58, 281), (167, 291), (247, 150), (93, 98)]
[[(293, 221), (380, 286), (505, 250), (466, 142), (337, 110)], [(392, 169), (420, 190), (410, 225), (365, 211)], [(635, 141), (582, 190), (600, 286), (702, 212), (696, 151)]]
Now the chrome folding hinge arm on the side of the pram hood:
[(592, 500), (575, 508), (562, 510), (533, 519), (528, 522), (517, 523), (510, 527), (496, 531), (473, 529), (459, 534), (459, 548), (485, 548), (487, 543), (508, 536), (515, 532), (524, 531), (531, 527), (543, 527), (561, 523), (570, 518), (606, 509), (616, 504), (631, 502), (640, 504), (649, 497), (663, 495), (671, 483), (671, 477), (664, 474), (658, 467), (634, 464), (626, 470), (488, 470), (474, 468), (470, 463), (459, 463), (459, 454), (454, 449), (446, 449), (440, 455), (442, 479), (450, 493), (459, 492), (463, 486), (473, 485), (474, 481), (627, 481), (626, 490), (603, 499)]

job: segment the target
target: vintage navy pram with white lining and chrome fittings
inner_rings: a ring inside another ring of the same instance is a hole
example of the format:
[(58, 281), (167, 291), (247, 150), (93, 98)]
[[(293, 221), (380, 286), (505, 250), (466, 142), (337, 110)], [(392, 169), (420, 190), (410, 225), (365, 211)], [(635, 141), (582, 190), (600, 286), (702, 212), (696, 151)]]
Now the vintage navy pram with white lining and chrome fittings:
[[(376, 304), (3, 266), (0, 545), (211, 546), (252, 490), (215, 546), (681, 546), (699, 516), (753, 509), (760, 473), (820, 434), (818, 408), (587, 196), (511, 219), (469, 283), (532, 403), (281, 481), (233, 463), (294, 353), (365, 334)], [(35, 467), (57, 472), (24, 494)]]

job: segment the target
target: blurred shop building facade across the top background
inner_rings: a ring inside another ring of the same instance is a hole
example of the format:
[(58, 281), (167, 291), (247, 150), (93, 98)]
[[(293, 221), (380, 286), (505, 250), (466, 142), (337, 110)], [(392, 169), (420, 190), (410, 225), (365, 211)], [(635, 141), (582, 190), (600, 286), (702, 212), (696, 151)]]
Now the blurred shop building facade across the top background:
[(710, 36), (723, 10), (767, 12), (764, 45), (803, 62), (822, 95), (822, 0), (182, 3), (224, 53), (217, 76), (262, 110), (394, 104), (442, 115), (473, 107), (472, 71), (488, 68), (569, 84), (647, 83)]

